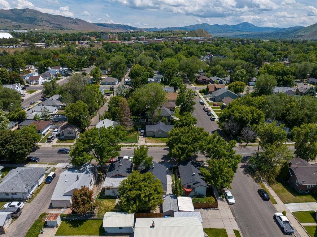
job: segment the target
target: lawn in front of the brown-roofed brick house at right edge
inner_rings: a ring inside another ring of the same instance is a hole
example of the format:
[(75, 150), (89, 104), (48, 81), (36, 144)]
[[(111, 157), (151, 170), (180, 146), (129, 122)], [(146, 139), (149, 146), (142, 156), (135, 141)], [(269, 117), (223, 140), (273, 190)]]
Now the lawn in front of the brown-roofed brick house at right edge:
[(317, 200), (316, 195), (298, 193), (287, 182), (276, 182), (271, 185), (271, 188), (281, 198), (283, 203), (313, 203)]

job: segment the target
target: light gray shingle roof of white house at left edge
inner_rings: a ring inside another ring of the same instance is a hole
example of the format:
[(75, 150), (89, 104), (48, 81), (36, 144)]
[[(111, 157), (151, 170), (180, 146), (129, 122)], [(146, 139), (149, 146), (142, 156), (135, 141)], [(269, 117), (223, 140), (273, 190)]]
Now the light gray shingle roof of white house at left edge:
[(0, 183), (0, 192), (27, 193), (45, 172), (46, 168), (18, 167), (11, 170)]

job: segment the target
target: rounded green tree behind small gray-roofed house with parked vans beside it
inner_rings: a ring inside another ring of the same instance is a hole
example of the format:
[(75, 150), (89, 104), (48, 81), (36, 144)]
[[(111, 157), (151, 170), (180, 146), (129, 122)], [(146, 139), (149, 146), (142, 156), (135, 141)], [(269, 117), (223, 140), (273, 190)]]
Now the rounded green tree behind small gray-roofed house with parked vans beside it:
[(85, 129), (89, 126), (89, 111), (88, 105), (81, 100), (76, 103), (68, 104), (65, 108), (65, 115), (68, 122), (78, 126), (78, 128)]

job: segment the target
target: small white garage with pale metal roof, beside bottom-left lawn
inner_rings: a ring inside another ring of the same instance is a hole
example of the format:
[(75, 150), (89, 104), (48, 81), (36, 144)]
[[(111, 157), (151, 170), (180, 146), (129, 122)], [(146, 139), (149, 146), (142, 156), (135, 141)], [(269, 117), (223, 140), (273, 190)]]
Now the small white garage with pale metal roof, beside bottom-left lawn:
[(105, 233), (133, 233), (134, 214), (127, 212), (106, 212), (102, 227)]

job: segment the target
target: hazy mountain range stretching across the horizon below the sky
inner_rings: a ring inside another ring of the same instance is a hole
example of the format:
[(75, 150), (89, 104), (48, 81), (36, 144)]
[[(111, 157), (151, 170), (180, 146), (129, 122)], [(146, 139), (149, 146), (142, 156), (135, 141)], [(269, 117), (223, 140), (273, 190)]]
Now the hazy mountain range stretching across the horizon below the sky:
[(259, 27), (248, 22), (236, 25), (210, 25), (207, 23), (183, 27), (168, 28), (137, 28), (121, 24), (89, 23), (78, 18), (42, 13), (33, 9), (0, 10), (0, 28), (2, 29), (63, 29), (63, 30), (90, 30), (90, 31), (194, 31), (204, 29), (213, 36), (245, 37), (245, 38), (287, 38), (287, 39), (317, 39), (317, 24), (302, 27), (275, 28)]

